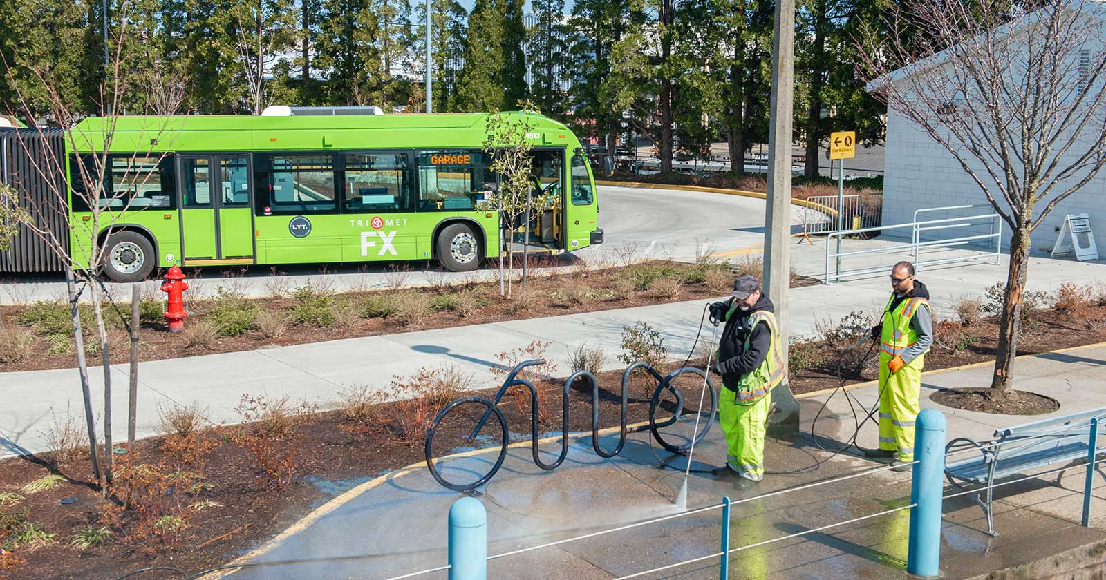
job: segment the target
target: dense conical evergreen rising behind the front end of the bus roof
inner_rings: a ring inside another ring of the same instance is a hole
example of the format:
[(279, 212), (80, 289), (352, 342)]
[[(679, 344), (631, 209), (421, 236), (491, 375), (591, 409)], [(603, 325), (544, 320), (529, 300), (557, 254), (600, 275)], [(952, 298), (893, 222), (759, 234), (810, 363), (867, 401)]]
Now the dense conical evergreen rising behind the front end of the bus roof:
[(465, 34), (465, 65), (457, 78), (455, 108), (488, 112), (503, 105), (504, 6), (502, 0), (477, 0)]

